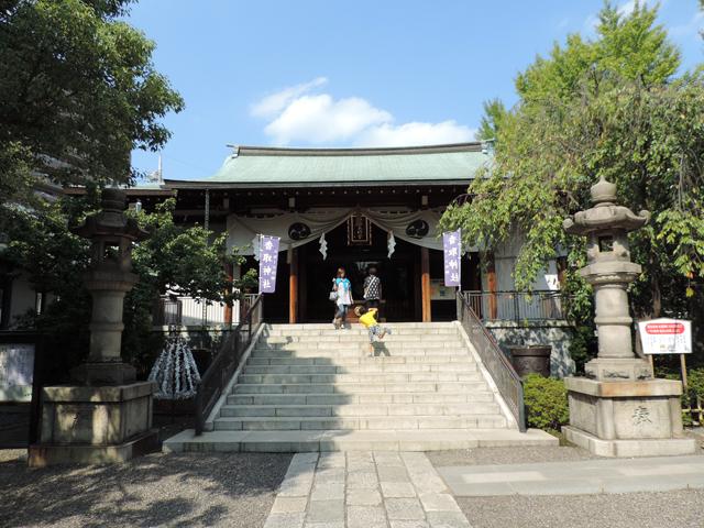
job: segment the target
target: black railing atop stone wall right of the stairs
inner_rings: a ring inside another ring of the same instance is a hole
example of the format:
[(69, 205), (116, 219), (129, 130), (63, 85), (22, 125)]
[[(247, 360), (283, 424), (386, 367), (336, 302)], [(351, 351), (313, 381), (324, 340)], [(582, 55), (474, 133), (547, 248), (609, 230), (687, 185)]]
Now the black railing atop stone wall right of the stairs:
[(482, 321), (560, 321), (566, 319), (571, 297), (561, 292), (462, 292)]

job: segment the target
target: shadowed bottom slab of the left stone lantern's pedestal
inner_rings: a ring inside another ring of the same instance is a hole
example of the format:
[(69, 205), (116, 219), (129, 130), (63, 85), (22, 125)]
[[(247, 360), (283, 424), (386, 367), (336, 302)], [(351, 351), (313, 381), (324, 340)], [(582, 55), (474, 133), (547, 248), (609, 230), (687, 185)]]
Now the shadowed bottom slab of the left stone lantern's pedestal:
[(30, 446), (30, 468), (55, 464), (107, 464), (122, 463), (158, 450), (158, 430), (152, 429), (132, 440), (117, 446)]

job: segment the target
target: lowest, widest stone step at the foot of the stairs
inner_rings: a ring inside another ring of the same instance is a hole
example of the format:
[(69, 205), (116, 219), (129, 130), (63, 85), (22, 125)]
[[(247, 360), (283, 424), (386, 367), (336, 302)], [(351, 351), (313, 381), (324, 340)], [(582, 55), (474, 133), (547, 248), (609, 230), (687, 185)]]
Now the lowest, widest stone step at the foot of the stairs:
[(529, 429), (399, 429), (363, 431), (209, 431), (186, 429), (164, 441), (165, 452), (446, 451), (494, 447), (558, 446)]

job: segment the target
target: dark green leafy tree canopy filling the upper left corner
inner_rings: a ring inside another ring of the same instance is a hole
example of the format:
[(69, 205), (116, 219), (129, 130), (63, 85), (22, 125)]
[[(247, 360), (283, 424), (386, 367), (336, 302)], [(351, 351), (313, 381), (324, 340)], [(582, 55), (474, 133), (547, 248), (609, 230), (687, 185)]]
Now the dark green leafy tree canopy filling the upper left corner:
[(0, 200), (57, 184), (125, 183), (133, 148), (169, 138), (184, 102), (154, 69), (154, 43), (120, 16), (132, 0), (0, 3)]

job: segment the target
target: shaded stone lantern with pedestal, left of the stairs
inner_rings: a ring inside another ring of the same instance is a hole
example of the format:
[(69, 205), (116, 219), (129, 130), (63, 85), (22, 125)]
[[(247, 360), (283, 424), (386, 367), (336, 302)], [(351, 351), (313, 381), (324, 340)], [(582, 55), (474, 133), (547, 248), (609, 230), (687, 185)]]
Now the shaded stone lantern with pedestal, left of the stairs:
[(90, 239), (92, 262), (85, 276), (92, 297), (90, 352), (72, 372), (76, 384), (44, 387), (40, 443), (29, 462), (122, 462), (156, 447), (152, 430), (153, 382), (135, 382), (135, 370), (121, 361), (124, 295), (138, 282), (132, 243), (147, 237), (124, 216), (127, 195), (105, 189), (100, 212), (75, 233)]

